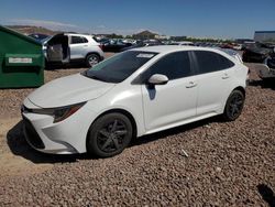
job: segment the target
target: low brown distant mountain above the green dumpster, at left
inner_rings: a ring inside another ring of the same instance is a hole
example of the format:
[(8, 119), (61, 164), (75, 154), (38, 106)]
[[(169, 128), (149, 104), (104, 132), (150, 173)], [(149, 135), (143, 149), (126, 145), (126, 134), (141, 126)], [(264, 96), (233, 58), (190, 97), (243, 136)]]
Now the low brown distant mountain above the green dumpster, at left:
[(52, 31), (45, 28), (32, 26), (32, 25), (6, 25), (6, 26), (25, 35), (29, 35), (32, 33), (40, 33), (40, 34), (47, 34), (47, 35), (54, 35), (54, 34), (61, 33), (59, 31)]

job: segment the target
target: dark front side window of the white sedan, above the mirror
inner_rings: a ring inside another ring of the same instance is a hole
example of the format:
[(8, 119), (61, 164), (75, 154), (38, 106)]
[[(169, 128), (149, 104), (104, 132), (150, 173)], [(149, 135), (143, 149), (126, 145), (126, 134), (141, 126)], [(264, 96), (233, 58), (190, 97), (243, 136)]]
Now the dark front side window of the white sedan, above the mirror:
[(162, 74), (168, 79), (177, 79), (191, 75), (190, 59), (188, 52), (172, 53), (156, 62), (146, 72), (146, 77), (154, 74)]

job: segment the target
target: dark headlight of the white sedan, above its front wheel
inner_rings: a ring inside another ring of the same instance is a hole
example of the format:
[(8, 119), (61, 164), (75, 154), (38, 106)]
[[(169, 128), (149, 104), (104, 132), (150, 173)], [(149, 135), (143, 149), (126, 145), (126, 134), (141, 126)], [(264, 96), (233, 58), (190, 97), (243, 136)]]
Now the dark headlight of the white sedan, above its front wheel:
[(57, 108), (54, 110), (54, 123), (67, 119), (69, 116), (74, 115), (78, 109), (80, 109), (86, 102), (78, 105), (72, 105), (67, 107)]

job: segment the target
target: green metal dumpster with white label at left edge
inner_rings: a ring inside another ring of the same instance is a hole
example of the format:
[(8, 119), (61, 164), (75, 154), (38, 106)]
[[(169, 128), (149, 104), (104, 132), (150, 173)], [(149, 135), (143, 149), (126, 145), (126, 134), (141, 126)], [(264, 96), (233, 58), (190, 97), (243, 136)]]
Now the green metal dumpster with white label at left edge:
[(44, 65), (41, 43), (0, 25), (0, 88), (43, 85)]

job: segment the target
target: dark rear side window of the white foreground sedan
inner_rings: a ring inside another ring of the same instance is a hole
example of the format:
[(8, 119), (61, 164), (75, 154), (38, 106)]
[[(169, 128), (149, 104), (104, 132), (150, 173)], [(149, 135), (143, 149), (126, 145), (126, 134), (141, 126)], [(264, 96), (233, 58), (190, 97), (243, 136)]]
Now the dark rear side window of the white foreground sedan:
[(234, 64), (222, 55), (209, 51), (194, 51), (199, 67), (199, 74), (228, 69)]

